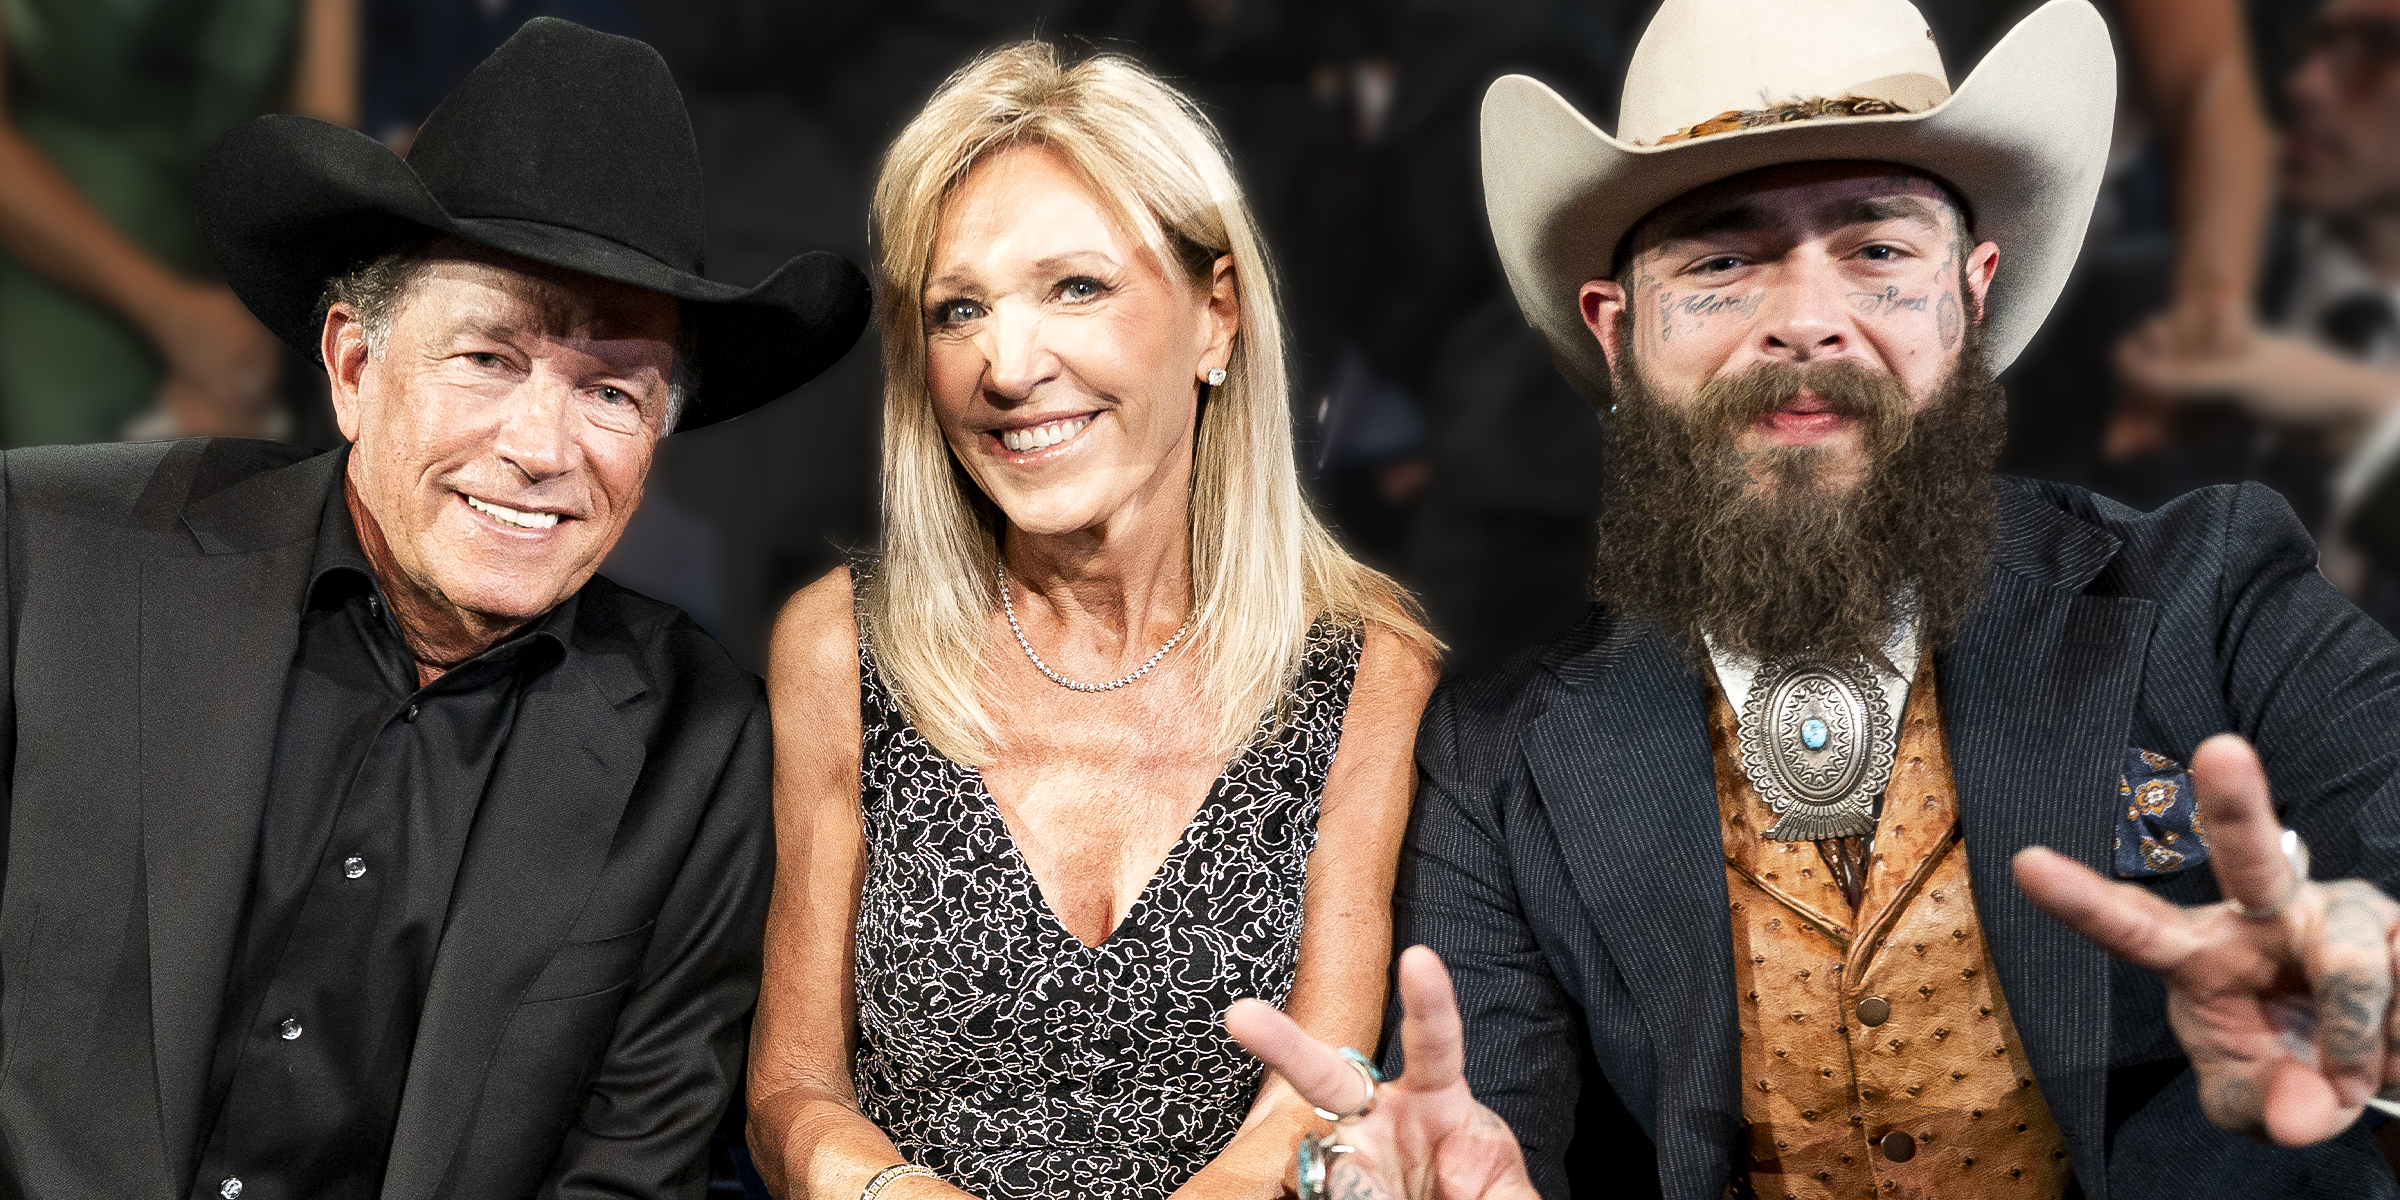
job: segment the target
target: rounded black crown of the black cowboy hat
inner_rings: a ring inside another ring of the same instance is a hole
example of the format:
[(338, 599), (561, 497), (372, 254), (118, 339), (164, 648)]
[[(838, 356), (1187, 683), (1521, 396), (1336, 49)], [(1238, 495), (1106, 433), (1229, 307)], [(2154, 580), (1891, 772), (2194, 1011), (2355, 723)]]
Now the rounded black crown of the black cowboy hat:
[(425, 118), (408, 166), (456, 218), (595, 233), (703, 274), (701, 149), (641, 41), (526, 22)]

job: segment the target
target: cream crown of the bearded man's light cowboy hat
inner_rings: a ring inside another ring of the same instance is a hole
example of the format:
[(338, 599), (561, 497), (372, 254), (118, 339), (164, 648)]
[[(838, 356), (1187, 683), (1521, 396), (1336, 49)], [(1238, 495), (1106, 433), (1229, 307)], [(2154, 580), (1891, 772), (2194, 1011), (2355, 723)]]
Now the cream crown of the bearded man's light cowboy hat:
[(1618, 139), (1656, 146), (1723, 113), (1819, 98), (1922, 113), (1949, 94), (1908, 0), (1666, 0), (1625, 72)]

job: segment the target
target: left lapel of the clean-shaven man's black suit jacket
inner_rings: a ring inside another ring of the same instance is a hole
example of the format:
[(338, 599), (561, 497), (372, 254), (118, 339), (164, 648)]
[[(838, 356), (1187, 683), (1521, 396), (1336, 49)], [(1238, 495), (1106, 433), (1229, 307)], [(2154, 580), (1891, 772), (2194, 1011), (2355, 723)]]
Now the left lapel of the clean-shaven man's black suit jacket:
[(142, 866), (158, 1123), (192, 1169), (233, 936), (250, 893), (283, 677), (312, 559), (298, 540), (142, 569)]

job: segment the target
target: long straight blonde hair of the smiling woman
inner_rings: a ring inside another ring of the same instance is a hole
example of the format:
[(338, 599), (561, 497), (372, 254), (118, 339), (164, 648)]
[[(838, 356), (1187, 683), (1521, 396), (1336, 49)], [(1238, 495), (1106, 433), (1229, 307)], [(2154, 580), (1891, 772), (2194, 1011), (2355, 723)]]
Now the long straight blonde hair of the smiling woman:
[(926, 391), (924, 281), (941, 206), (986, 156), (1044, 146), (1159, 254), (1207, 286), (1234, 257), (1241, 324), (1226, 379), (1200, 406), (1190, 492), (1193, 622), (1212, 746), (1231, 756), (1298, 679), (1318, 617), (1438, 643), (1392, 581), (1351, 559), (1301, 499), (1284, 379), (1284, 322), (1267, 254), (1224, 146), (1188, 98), (1114, 55), (1066, 62), (1027, 41), (974, 60), (883, 156), (874, 197), (883, 322), (883, 562), (859, 617), (883, 684), (941, 754), (998, 746), (984, 641), (998, 607), (1003, 516), (965, 478)]

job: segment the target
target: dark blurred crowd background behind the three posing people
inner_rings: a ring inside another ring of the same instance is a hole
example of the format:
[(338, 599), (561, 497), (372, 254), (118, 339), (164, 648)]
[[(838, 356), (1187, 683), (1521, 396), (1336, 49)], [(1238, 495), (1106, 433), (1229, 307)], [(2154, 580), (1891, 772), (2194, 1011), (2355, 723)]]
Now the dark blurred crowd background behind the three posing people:
[[(1954, 82), (2033, 0), (1920, 0)], [(2328, 578), (2400, 619), (2400, 0), (2100, 0), (2110, 182), (2011, 367), (2006, 468), (2138, 509), (2266, 480)], [(1601, 127), (1656, 0), (0, 0), (0, 439), (233, 432), (331, 446), (319, 370), (211, 276), (192, 170), (269, 110), (396, 151), (530, 17), (650, 41), (706, 163), (708, 269), (866, 262), (883, 144), (977, 50), (1130, 53), (1234, 149), (1291, 310), (1294, 422), (1342, 538), (1423, 595), (1452, 670), (1570, 624), (1601, 430), (1483, 228), (1502, 72)], [(763, 665), (802, 583), (874, 538), (878, 348), (662, 446), (610, 574)], [(732, 1126), (737, 1128), (737, 1126)], [(727, 1188), (732, 1188), (727, 1176)]]

